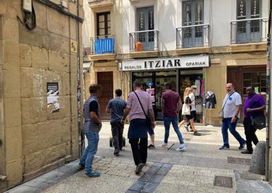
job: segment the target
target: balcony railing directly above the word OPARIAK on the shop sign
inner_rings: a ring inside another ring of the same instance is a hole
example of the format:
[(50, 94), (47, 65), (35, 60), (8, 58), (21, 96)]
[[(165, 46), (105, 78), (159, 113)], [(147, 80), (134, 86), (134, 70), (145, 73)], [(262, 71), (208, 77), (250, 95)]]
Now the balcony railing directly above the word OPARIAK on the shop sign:
[(209, 24), (178, 27), (177, 49), (209, 46)]

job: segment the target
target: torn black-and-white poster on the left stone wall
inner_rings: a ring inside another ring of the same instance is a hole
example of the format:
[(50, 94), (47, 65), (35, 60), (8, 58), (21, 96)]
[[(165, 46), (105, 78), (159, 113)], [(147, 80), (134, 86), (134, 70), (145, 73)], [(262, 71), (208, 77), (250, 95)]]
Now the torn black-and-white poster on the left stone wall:
[(58, 93), (58, 82), (47, 82), (47, 109), (50, 109), (51, 113), (60, 111)]

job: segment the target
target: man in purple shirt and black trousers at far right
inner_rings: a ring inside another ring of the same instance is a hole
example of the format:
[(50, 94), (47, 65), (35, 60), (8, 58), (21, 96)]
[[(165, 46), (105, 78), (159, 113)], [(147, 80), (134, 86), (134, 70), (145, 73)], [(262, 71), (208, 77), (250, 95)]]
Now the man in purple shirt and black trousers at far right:
[(241, 153), (252, 154), (252, 142), (256, 145), (259, 140), (256, 136), (256, 128), (252, 125), (252, 118), (264, 114), (265, 110), (265, 101), (264, 98), (260, 94), (256, 94), (252, 86), (247, 88), (247, 99), (245, 99), (244, 104), (244, 127), (245, 127), (245, 135), (247, 138), (247, 149), (242, 151)]

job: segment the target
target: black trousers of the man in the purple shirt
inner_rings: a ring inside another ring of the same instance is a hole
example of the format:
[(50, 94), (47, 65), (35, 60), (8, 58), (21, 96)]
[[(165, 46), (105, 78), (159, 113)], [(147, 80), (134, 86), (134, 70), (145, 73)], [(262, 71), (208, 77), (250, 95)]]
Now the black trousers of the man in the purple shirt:
[(253, 125), (251, 125), (251, 118), (247, 117), (243, 121), (244, 128), (245, 128), (245, 136), (247, 139), (247, 150), (253, 151), (252, 149), (252, 142), (257, 145), (259, 140), (256, 136), (256, 130)]

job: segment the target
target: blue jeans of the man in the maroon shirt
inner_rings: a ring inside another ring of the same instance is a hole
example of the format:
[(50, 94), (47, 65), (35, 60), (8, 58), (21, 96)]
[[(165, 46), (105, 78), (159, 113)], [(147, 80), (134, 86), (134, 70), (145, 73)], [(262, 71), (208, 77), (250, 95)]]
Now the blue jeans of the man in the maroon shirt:
[(163, 116), (163, 123), (164, 123), (164, 128), (166, 129), (166, 132), (164, 133), (164, 142), (166, 144), (168, 143), (170, 124), (172, 123), (174, 127), (174, 131), (177, 133), (177, 136), (179, 138), (179, 143), (183, 144), (184, 142), (181, 136), (181, 131), (179, 131), (177, 117)]

